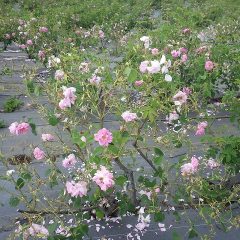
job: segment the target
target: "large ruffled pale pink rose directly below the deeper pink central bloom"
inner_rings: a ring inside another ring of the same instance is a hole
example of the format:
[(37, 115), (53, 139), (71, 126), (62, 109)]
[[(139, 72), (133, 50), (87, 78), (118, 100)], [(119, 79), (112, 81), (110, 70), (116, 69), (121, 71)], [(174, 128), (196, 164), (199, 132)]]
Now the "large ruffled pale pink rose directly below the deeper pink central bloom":
[(102, 191), (106, 191), (115, 184), (113, 174), (104, 166), (100, 166), (100, 170), (97, 170), (92, 180), (101, 188)]

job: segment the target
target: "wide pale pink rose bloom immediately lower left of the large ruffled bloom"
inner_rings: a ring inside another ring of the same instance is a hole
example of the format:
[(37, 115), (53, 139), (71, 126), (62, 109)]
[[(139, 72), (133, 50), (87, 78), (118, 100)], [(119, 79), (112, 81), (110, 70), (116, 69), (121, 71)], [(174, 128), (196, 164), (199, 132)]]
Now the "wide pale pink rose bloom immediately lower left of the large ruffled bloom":
[(88, 191), (87, 183), (84, 181), (80, 181), (80, 182), (67, 181), (66, 190), (67, 190), (67, 193), (70, 194), (72, 197), (87, 196), (87, 191)]

